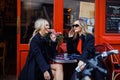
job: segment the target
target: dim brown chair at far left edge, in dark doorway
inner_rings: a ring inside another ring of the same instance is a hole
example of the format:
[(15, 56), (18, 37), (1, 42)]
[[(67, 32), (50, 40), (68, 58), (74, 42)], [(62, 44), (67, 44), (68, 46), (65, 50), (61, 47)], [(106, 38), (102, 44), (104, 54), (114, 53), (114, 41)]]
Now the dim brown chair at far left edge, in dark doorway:
[(0, 63), (2, 64), (3, 76), (5, 76), (5, 56), (6, 56), (6, 42), (0, 42)]

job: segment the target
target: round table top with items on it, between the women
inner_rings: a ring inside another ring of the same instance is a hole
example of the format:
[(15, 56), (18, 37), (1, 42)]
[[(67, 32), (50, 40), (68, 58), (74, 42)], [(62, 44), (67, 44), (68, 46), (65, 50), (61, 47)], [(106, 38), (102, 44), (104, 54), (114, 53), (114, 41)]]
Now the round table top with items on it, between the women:
[(76, 63), (77, 59), (71, 58), (73, 55), (68, 55), (67, 57), (64, 57), (64, 55), (56, 55), (55, 58), (52, 58), (52, 61), (57, 63)]

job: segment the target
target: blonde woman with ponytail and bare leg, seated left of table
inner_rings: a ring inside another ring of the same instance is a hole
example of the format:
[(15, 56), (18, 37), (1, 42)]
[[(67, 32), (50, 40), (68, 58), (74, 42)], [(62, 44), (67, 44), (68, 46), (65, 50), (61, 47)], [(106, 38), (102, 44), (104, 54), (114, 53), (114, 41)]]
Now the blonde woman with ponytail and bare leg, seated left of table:
[(29, 54), (19, 80), (63, 80), (62, 64), (50, 64), (50, 55), (56, 53), (57, 42), (54, 34), (50, 35), (50, 41), (46, 38), (49, 28), (46, 19), (36, 20)]

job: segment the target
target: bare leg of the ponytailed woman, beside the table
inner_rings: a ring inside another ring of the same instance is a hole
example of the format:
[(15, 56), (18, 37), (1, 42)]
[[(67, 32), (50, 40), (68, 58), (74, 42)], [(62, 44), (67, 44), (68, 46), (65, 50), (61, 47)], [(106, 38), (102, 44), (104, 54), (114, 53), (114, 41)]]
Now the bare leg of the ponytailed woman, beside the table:
[(51, 68), (54, 75), (54, 80), (63, 80), (63, 65), (62, 64), (51, 64)]

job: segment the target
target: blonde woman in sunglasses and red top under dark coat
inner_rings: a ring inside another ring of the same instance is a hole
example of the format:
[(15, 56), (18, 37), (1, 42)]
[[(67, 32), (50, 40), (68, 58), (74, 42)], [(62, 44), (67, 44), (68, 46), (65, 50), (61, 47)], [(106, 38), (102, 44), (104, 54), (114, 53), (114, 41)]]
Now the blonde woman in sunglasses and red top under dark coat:
[[(69, 54), (75, 53), (80, 55), (78, 62), (80, 70), (84, 69), (87, 60), (95, 56), (94, 43), (94, 35), (88, 30), (86, 22), (83, 20), (74, 21), (68, 33), (67, 51)], [(88, 76), (88, 74), (81, 73), (80, 79), (91, 80)], [(94, 80), (104, 80), (98, 70), (94, 70), (92, 76), (94, 76)]]

